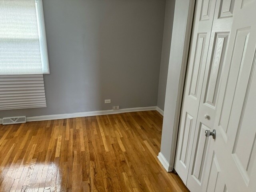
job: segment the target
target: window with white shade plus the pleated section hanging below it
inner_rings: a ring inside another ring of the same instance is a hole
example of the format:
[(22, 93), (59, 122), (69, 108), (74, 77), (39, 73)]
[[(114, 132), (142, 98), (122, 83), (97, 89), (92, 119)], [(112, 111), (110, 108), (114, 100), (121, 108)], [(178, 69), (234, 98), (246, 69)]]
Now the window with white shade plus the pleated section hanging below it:
[(0, 110), (46, 107), (42, 0), (0, 0)]

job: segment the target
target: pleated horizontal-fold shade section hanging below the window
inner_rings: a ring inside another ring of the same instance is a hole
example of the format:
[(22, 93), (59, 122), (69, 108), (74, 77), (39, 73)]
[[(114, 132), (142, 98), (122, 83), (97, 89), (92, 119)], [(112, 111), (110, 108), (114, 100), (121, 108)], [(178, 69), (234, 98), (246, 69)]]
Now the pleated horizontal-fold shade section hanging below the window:
[(46, 107), (42, 74), (0, 75), (0, 110), (37, 107)]

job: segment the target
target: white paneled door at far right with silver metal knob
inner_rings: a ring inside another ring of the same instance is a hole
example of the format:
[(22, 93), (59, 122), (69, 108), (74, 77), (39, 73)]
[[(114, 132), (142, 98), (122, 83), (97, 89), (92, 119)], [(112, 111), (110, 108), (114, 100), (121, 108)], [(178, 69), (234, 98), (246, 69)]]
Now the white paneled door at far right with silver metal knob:
[(256, 191), (256, 1), (236, 0), (203, 191)]

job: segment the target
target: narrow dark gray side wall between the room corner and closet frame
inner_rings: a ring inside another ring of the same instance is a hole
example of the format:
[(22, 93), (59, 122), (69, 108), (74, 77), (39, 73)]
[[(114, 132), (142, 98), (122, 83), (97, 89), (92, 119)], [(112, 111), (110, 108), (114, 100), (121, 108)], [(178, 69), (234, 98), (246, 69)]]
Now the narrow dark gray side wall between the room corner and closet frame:
[(157, 106), (162, 110), (164, 110), (166, 82), (167, 82), (170, 48), (171, 48), (171, 40), (172, 40), (174, 6), (175, 6), (175, 0), (166, 0), (165, 19), (164, 19), (164, 36), (163, 36), (163, 44), (162, 44), (162, 56), (161, 56), (159, 85), (158, 85), (158, 100), (157, 100)]

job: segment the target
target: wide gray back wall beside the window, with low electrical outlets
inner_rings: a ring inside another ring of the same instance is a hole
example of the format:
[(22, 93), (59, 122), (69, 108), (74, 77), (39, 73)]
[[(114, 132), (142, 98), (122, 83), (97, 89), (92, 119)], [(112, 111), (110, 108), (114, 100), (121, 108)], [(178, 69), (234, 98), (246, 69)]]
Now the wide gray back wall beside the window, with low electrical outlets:
[(156, 106), (165, 3), (43, 0), (47, 108), (0, 111), (0, 118)]

